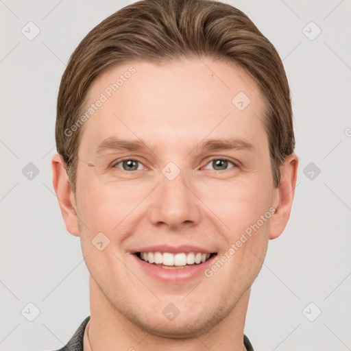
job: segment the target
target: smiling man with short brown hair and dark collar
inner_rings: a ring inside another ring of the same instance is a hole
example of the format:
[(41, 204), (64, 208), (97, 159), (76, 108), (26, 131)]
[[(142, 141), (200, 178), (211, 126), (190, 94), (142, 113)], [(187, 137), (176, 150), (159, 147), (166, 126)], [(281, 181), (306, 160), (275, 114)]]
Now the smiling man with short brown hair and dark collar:
[(62, 77), (53, 186), (90, 273), (61, 350), (253, 350), (250, 289), (287, 225), (298, 156), (282, 62), (243, 12), (145, 0)]

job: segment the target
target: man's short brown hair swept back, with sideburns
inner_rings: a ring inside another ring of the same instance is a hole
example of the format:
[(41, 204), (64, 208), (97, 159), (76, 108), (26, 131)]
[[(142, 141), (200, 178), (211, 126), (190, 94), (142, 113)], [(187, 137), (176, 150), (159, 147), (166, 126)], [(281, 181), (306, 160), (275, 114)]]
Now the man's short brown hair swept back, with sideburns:
[(278, 52), (240, 10), (209, 0), (143, 0), (94, 27), (73, 52), (58, 93), (56, 147), (66, 163), (73, 192), (83, 128), (66, 130), (82, 114), (98, 75), (131, 60), (153, 63), (212, 57), (234, 62), (257, 82), (265, 99), (263, 125), (269, 138), (274, 186), (280, 165), (295, 148), (291, 93)]

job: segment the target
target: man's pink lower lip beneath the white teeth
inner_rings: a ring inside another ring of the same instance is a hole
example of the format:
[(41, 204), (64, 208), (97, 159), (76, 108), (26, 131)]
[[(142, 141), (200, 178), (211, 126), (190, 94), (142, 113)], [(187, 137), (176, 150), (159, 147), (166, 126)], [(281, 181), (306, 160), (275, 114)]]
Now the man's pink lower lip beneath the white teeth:
[(138, 258), (136, 254), (133, 254), (133, 256), (136, 259), (138, 265), (140, 265), (141, 269), (143, 269), (143, 271), (145, 271), (145, 273), (147, 273), (149, 276), (157, 278), (158, 280), (162, 280), (163, 282), (178, 283), (194, 279), (197, 276), (200, 276), (201, 274), (204, 275), (205, 269), (213, 263), (213, 259), (217, 255), (213, 255), (208, 259), (208, 261), (199, 263), (198, 265), (194, 264), (184, 268), (171, 269), (162, 268), (152, 263), (147, 263)]

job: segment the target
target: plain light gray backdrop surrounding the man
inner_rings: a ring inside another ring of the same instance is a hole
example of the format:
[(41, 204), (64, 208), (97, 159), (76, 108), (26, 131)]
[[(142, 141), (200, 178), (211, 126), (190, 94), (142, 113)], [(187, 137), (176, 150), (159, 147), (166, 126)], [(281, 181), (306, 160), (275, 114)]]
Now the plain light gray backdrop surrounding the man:
[[(80, 241), (51, 184), (56, 97), (80, 40), (132, 2), (0, 0), (1, 350), (60, 348), (90, 314)], [(226, 2), (283, 59), (300, 158), (290, 221), (269, 242), (245, 334), (256, 351), (351, 350), (351, 1)], [(21, 32), (35, 33), (29, 21), (40, 29), (33, 40)], [(40, 311), (33, 322), (34, 307), (21, 313), (29, 303)]]

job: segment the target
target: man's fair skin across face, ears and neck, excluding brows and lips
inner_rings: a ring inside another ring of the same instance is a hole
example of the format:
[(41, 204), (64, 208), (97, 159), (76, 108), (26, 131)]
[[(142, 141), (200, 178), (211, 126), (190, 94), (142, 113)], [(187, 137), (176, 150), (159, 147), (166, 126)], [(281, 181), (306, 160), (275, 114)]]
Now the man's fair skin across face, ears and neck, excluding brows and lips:
[[(90, 272), (92, 349), (245, 350), (250, 288), (269, 239), (287, 225), (298, 156), (287, 156), (274, 189), (261, 92), (245, 71), (212, 58), (115, 66), (93, 82), (87, 106), (130, 66), (136, 72), (84, 124), (75, 194), (62, 158), (52, 158), (66, 229), (80, 237)], [(242, 111), (232, 104), (239, 92), (251, 100)], [(139, 138), (148, 148), (97, 158), (97, 145), (110, 136)], [(244, 138), (255, 149), (204, 153), (197, 145), (208, 138)], [(101, 159), (122, 158), (137, 158), (140, 169), (123, 173), (119, 163), (103, 170)], [(215, 170), (212, 161), (222, 158), (232, 163)], [(174, 180), (162, 173), (168, 162), (180, 169)], [(160, 282), (143, 274), (131, 253), (190, 244), (220, 257), (271, 206), (274, 215), (210, 278)], [(91, 242), (98, 232), (110, 239), (103, 251)], [(162, 313), (170, 303), (180, 311), (171, 321)]]

